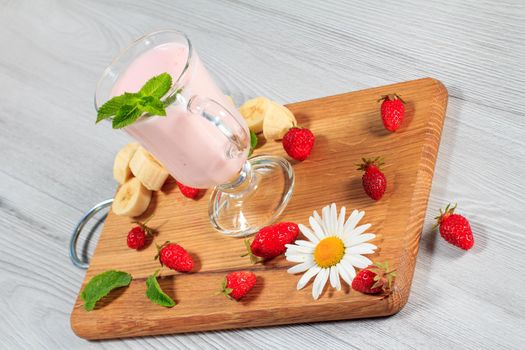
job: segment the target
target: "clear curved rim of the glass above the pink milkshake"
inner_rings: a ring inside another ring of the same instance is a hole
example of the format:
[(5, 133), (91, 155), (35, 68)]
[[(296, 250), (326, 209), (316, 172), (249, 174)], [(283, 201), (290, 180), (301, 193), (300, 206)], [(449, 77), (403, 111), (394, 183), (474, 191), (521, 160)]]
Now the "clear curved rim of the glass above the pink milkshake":
[[(186, 45), (188, 46), (188, 56), (186, 57), (186, 64), (184, 65), (184, 68), (180, 72), (179, 76), (176, 79), (173, 80), (172, 87), (171, 87), (170, 91), (167, 93), (167, 96), (170, 96), (172, 94), (172, 92), (173, 92), (172, 90), (174, 90), (176, 88), (176, 86), (178, 86), (177, 83), (180, 82), (180, 80), (182, 79), (184, 74), (188, 71), (188, 68), (189, 68), (190, 62), (191, 62), (191, 58), (192, 58), (192, 55), (193, 55), (193, 48), (192, 48), (192, 44), (191, 44), (190, 39), (188, 38), (188, 36), (184, 32), (181, 32), (181, 31), (179, 31), (177, 29), (160, 29), (160, 30), (156, 30), (154, 32), (150, 32), (150, 33), (144, 34), (144, 35), (138, 37), (137, 39), (133, 40), (128, 46), (126, 46), (124, 49), (122, 49), (111, 60), (111, 63), (108, 64), (106, 66), (106, 68), (104, 68), (104, 70), (102, 71), (102, 74), (100, 75), (100, 78), (97, 81), (97, 85), (96, 85), (96, 88), (95, 88), (94, 104), (95, 104), (95, 110), (96, 111), (98, 111), (98, 108), (99, 108), (99, 103), (97, 102), (97, 99), (98, 99), (98, 95), (99, 95), (100, 86), (101, 86), (102, 82), (104, 81), (104, 78), (111, 71), (111, 68), (113, 66), (115, 66), (118, 62), (120, 62), (124, 57), (126, 57), (126, 55), (128, 55), (132, 49), (134, 49), (137, 46), (139, 46), (140, 44), (142, 44), (148, 38), (157, 36), (159, 34), (166, 34), (166, 33), (172, 33), (172, 34), (181, 35), (186, 40)], [(102, 106), (103, 104), (104, 103), (100, 103), (100, 106)]]

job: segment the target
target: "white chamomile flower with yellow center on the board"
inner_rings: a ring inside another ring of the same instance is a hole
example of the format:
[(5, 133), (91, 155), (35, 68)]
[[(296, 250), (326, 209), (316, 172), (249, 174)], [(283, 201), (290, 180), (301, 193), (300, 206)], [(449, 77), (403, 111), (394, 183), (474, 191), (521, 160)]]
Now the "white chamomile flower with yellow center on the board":
[(336, 290), (341, 290), (340, 277), (348, 284), (356, 275), (355, 268), (365, 268), (372, 261), (363, 254), (373, 254), (377, 247), (366, 243), (375, 238), (373, 233), (365, 233), (370, 224), (357, 226), (365, 215), (364, 211), (354, 210), (345, 222), (346, 208), (342, 207), (339, 216), (334, 203), (322, 210), (322, 218), (317, 211), (310, 216), (311, 229), (299, 225), (299, 230), (308, 240), (296, 240), (286, 245), (286, 260), (299, 263), (288, 269), (288, 273), (304, 274), (297, 283), (297, 290), (304, 288), (313, 277), (312, 296), (318, 299), (328, 280)]

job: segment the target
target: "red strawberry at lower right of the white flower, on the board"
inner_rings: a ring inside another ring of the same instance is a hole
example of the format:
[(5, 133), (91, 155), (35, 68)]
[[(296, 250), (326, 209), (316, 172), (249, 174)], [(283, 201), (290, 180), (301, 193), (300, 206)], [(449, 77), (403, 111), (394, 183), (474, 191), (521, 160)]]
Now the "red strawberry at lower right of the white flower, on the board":
[(352, 289), (366, 294), (377, 294), (392, 288), (395, 271), (389, 271), (388, 262), (374, 263), (362, 269), (352, 280)]

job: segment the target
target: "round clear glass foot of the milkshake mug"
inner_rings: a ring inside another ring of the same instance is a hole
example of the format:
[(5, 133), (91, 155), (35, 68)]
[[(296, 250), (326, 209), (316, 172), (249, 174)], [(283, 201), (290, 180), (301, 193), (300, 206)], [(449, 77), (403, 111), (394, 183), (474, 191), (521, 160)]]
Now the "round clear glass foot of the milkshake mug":
[(210, 198), (212, 226), (226, 236), (245, 237), (273, 223), (292, 197), (294, 172), (282, 157), (249, 159), (239, 179), (215, 187)]

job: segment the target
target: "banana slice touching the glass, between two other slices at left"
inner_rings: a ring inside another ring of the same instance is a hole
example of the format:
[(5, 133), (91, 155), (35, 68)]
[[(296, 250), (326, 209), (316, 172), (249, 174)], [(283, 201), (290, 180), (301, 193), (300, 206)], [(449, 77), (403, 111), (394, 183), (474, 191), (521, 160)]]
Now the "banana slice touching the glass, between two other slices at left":
[(129, 162), (129, 168), (144, 187), (152, 191), (160, 190), (169, 175), (162, 164), (142, 147), (135, 151)]

